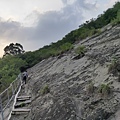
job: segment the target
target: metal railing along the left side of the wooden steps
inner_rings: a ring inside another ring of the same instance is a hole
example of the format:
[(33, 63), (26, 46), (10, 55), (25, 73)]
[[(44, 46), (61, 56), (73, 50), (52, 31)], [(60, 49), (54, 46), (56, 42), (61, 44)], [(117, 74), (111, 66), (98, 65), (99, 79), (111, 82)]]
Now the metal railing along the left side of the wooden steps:
[(13, 108), (15, 94), (19, 90), (21, 83), (21, 74), (19, 74), (16, 80), (0, 94), (0, 120), (8, 120)]

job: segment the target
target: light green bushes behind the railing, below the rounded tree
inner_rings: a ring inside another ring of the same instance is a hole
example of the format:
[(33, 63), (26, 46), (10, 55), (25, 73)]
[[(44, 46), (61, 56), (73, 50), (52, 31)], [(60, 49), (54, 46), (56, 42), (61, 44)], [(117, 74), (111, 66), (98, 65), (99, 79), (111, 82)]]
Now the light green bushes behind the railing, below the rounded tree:
[(27, 63), (16, 56), (7, 56), (0, 59), (0, 81), (4, 86), (8, 86), (16, 79), (19, 68), (25, 66)]

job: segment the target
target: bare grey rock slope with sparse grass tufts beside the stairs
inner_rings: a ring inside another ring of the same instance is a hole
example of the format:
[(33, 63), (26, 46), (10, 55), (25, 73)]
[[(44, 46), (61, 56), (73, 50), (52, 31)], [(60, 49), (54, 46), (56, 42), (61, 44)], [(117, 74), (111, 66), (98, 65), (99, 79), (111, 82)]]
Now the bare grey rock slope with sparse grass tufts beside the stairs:
[(31, 112), (12, 120), (120, 120), (120, 25), (80, 45), (85, 56), (72, 49), (28, 70)]

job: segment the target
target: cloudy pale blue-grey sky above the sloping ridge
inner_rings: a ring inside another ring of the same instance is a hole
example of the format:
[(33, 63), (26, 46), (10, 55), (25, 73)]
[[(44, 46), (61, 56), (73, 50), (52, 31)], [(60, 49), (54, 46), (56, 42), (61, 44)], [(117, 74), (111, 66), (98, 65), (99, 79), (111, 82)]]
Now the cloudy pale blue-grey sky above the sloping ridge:
[(20, 43), (25, 51), (34, 51), (61, 40), (117, 1), (0, 0), (0, 57), (10, 43)]

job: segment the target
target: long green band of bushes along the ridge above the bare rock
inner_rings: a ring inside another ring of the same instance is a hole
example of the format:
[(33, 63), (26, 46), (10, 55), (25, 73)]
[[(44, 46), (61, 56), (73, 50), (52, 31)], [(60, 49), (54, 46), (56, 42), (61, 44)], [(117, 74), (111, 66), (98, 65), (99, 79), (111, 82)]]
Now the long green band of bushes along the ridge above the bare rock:
[(57, 56), (73, 48), (73, 44), (86, 37), (94, 34), (100, 34), (101, 28), (105, 25), (112, 23), (113, 20), (120, 18), (120, 2), (117, 2), (113, 8), (106, 10), (103, 14), (99, 15), (96, 19), (92, 18), (89, 21), (81, 24), (78, 29), (71, 31), (62, 40), (56, 43), (46, 45), (34, 52), (26, 52), (19, 57), (27, 62), (29, 67), (51, 56)]

